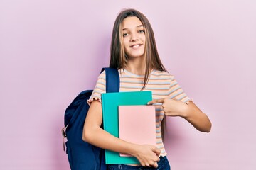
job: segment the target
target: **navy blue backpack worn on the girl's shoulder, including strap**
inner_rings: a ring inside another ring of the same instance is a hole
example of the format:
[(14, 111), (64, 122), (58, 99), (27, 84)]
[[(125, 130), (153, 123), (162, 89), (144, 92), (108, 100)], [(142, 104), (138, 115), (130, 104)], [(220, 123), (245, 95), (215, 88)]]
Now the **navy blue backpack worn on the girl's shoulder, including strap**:
[[(101, 72), (106, 72), (106, 91), (119, 91), (119, 74), (117, 69), (103, 68)], [(63, 149), (68, 154), (68, 162), (72, 170), (106, 170), (105, 150), (90, 145), (82, 140), (82, 130), (85, 123), (89, 105), (87, 99), (90, 98), (92, 90), (82, 91), (70, 103), (65, 110), (64, 125), (62, 130)], [(67, 137), (67, 142), (64, 138)]]

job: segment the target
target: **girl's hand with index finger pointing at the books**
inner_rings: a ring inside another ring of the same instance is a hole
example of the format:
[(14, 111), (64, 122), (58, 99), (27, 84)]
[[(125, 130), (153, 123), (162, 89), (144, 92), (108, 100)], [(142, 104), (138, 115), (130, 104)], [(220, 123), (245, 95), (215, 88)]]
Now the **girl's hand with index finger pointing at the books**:
[(185, 117), (187, 106), (182, 101), (177, 101), (171, 98), (160, 98), (153, 101), (149, 101), (148, 104), (162, 103), (163, 111), (165, 115), (169, 116), (181, 116)]

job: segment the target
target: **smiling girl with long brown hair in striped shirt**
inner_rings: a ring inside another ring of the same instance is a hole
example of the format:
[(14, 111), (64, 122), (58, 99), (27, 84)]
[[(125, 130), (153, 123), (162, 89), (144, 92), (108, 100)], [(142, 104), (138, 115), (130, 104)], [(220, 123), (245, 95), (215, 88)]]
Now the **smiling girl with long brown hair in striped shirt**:
[[(110, 67), (119, 70), (119, 91), (152, 91), (156, 107), (156, 146), (137, 145), (120, 140), (106, 132), (102, 124), (101, 94), (105, 93), (105, 72), (100, 74), (92, 96), (87, 101), (83, 140), (103, 149), (131, 154), (140, 165), (112, 164), (108, 169), (170, 169), (162, 141), (161, 122), (164, 116), (181, 116), (197, 130), (210, 132), (211, 123), (166, 72), (156, 50), (154, 33), (148, 19), (139, 11), (127, 9), (114, 22)], [(146, 166), (146, 167), (145, 167)]]

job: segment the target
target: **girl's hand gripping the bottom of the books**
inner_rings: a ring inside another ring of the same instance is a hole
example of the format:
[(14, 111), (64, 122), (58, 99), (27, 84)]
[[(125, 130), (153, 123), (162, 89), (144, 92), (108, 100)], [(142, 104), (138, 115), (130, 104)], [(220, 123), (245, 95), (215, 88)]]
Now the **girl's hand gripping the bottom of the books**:
[(142, 166), (158, 167), (160, 149), (153, 145), (137, 145), (136, 153), (133, 154)]

